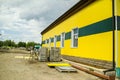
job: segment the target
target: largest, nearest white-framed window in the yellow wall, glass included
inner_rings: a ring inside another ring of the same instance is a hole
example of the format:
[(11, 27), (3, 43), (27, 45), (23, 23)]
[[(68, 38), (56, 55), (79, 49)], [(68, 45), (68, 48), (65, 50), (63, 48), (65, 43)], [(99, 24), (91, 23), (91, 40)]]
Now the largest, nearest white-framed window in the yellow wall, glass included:
[(78, 28), (72, 30), (72, 47), (78, 47)]

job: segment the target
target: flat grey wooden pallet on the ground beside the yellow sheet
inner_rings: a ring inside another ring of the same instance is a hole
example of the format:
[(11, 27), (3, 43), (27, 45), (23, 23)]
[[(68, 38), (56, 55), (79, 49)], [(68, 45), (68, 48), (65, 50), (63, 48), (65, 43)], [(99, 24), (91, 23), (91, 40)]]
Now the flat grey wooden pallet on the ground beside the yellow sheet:
[(77, 72), (77, 70), (75, 68), (71, 67), (71, 66), (57, 66), (55, 68), (59, 72), (68, 72), (68, 73)]

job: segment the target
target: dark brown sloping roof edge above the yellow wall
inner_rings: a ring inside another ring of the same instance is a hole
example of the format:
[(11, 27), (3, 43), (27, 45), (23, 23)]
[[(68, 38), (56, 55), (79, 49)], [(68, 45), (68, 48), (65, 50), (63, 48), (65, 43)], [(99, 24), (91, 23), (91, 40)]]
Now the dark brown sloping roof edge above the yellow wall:
[(72, 16), (73, 14), (77, 13), (78, 11), (80, 11), (81, 9), (83, 9), (85, 6), (87, 6), (88, 4), (92, 3), (95, 0), (80, 0), (77, 4), (75, 4), (71, 9), (69, 9), (67, 12), (65, 12), (62, 16), (60, 16), (59, 18), (57, 18), (52, 24), (50, 24), (46, 29), (44, 29), (41, 34), (46, 33), (47, 31), (49, 31), (50, 29), (54, 28), (56, 25), (58, 25), (59, 23), (63, 22), (64, 20), (66, 20), (67, 18), (69, 18), (70, 16)]

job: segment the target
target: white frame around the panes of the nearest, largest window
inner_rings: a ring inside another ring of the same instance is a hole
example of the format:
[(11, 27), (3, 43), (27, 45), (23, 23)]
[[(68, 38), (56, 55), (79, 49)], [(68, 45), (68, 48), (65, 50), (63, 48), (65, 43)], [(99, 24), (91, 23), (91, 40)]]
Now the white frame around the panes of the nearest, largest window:
[[(74, 33), (74, 30), (77, 29), (77, 33)], [(75, 46), (75, 38), (77, 39), (77, 46)], [(72, 32), (71, 32), (71, 47), (72, 48), (77, 48), (78, 47), (78, 28), (74, 28), (72, 29)]]

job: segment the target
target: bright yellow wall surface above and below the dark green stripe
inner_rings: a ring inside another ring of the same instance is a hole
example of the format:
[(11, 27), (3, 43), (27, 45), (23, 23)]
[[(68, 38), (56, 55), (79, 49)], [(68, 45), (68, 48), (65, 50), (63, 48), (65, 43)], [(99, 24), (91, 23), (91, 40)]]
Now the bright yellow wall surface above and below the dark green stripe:
[[(43, 40), (60, 35), (62, 32), (69, 32), (75, 27), (81, 28), (110, 17), (112, 17), (112, 0), (96, 0), (43, 34)], [(54, 44), (51, 43), (51, 46)], [(56, 47), (60, 47), (60, 41), (57, 42)], [(65, 47), (61, 48), (61, 52), (64, 55), (112, 61), (112, 32), (79, 37), (78, 48), (71, 47), (71, 39), (65, 40)]]

